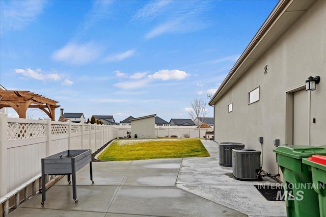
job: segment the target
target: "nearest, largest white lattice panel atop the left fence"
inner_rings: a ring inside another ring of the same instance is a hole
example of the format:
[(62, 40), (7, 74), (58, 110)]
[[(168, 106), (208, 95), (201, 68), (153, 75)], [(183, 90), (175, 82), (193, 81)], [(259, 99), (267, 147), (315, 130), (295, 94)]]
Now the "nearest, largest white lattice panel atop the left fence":
[(8, 123), (8, 140), (36, 138), (46, 136), (46, 124)]

